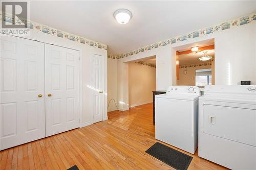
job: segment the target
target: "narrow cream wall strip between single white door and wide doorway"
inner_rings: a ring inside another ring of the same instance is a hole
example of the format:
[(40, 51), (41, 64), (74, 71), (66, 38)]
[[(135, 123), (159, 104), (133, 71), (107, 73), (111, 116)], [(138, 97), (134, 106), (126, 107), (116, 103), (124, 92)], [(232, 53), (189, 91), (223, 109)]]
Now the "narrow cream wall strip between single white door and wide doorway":
[[(111, 100), (112, 99), (112, 100)], [(114, 100), (115, 101), (114, 101)], [(111, 102), (110, 102), (111, 100)], [(117, 100), (117, 60), (108, 58), (108, 111), (117, 110), (116, 105), (118, 106)]]

